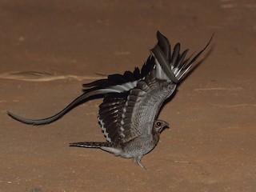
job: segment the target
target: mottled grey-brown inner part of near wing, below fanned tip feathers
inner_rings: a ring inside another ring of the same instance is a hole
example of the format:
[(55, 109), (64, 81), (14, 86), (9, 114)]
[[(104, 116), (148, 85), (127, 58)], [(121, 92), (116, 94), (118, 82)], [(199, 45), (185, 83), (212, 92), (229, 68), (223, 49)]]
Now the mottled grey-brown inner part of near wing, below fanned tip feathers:
[(98, 120), (107, 141), (128, 142), (151, 133), (162, 102), (176, 87), (174, 83), (158, 80), (155, 72), (151, 71), (130, 91), (106, 95), (99, 106)]

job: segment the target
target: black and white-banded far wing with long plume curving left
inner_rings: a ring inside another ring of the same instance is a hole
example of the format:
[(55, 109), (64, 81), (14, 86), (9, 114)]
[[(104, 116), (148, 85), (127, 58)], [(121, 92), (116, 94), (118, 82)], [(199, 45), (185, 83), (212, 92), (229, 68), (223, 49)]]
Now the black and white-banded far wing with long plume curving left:
[(124, 74), (110, 74), (107, 79), (101, 79), (84, 84), (83, 86), (85, 89), (83, 90), (84, 93), (82, 95), (75, 98), (73, 102), (58, 112), (58, 114), (54, 114), (49, 118), (23, 118), (17, 114), (11, 113), (10, 111), (7, 111), (7, 114), (10, 115), (11, 118), (26, 124), (32, 124), (35, 126), (48, 124), (62, 118), (64, 114), (67, 114), (70, 110), (74, 109), (74, 107), (88, 101), (91, 98), (101, 98), (107, 94), (114, 93), (122, 94), (127, 90), (133, 89), (140, 79), (145, 78), (145, 76), (150, 73), (153, 67), (154, 61), (152, 59), (148, 59), (147, 62), (145, 62), (142, 66), (142, 70), (139, 70), (138, 67), (136, 67), (134, 72), (126, 71)]

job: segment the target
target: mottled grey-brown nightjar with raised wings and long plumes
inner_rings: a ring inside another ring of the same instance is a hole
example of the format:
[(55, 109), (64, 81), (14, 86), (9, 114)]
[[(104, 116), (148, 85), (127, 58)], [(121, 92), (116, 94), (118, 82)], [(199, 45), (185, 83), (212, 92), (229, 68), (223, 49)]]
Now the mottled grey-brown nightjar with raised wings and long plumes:
[(195, 61), (210, 45), (213, 37), (198, 54), (186, 58), (189, 49), (180, 53), (181, 45), (178, 42), (171, 52), (169, 40), (157, 31), (158, 43), (150, 50), (150, 56), (141, 70), (135, 67), (134, 71), (110, 74), (107, 78), (83, 84), (83, 94), (49, 118), (22, 118), (10, 111), (7, 114), (19, 122), (38, 126), (62, 118), (83, 102), (103, 98), (99, 106), (98, 123), (106, 142), (71, 142), (70, 146), (98, 148), (115, 156), (132, 158), (145, 169), (142, 157), (157, 146), (162, 130), (170, 127), (168, 122), (158, 119), (163, 102), (198, 66), (199, 62), (194, 64)]

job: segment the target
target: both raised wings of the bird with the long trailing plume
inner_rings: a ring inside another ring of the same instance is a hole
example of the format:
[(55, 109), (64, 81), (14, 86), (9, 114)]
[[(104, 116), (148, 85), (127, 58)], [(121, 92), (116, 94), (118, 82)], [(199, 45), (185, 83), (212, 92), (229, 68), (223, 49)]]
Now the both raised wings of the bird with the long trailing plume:
[[(190, 73), (192, 64), (210, 44), (209, 41), (206, 47), (194, 58), (186, 59), (188, 50), (180, 54), (179, 43), (174, 46), (174, 51), (171, 53), (168, 39), (159, 31), (157, 38), (158, 44), (151, 50), (150, 57), (142, 66), (142, 70), (136, 67), (133, 72), (126, 71), (124, 74), (111, 74), (106, 79), (84, 84), (84, 94), (74, 99), (70, 105), (58, 114), (54, 114), (50, 118), (34, 120), (22, 118), (9, 111), (7, 113), (20, 122), (42, 125), (62, 118), (75, 106), (86, 102), (90, 98), (104, 97), (100, 107), (99, 121), (106, 138), (108, 141), (117, 141), (119, 138), (122, 138), (122, 141), (129, 141), (130, 138), (151, 129), (152, 121), (147, 123), (145, 119), (153, 119), (154, 121), (166, 95), (173, 93), (178, 82), (181, 82), (186, 74)], [(167, 91), (166, 94), (162, 90), (168, 90), (169, 92)], [(157, 105), (151, 107), (152, 103), (147, 101), (157, 103)], [(144, 106), (146, 108), (143, 108)], [(149, 110), (156, 111), (148, 114)], [(142, 122), (146, 124), (142, 126)], [(142, 129), (138, 129), (138, 126), (142, 126)]]

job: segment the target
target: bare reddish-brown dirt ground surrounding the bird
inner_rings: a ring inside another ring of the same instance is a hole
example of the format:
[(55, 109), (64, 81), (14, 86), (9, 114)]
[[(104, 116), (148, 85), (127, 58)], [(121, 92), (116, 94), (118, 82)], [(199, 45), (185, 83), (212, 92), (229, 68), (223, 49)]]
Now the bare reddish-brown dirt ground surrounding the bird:
[[(254, 0), (0, 1), (0, 191), (256, 191)], [(160, 30), (201, 66), (159, 118), (171, 129), (142, 158), (69, 147), (105, 141), (101, 99), (47, 126), (82, 83), (142, 66)], [(42, 74), (28, 74), (36, 71)], [(17, 73), (18, 72), (18, 73)]]

